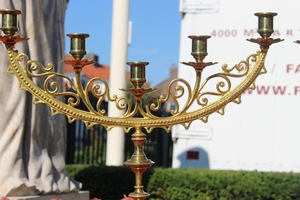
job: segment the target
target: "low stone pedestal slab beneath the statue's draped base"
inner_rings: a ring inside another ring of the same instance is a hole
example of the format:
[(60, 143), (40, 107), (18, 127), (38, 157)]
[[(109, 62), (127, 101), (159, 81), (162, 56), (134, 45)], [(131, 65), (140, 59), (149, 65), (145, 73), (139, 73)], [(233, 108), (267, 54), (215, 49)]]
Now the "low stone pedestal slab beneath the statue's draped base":
[[(89, 191), (71, 192), (66, 194), (49, 194), (40, 196), (7, 197), (8, 200), (89, 200)], [(1, 199), (1, 197), (0, 197)]]

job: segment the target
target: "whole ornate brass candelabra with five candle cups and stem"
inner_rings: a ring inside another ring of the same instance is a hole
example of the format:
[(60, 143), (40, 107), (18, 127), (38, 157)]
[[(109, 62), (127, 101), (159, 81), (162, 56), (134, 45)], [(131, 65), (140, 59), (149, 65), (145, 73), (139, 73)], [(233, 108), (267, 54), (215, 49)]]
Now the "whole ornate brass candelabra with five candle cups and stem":
[[(204, 81), (201, 80), (202, 71), (216, 63), (203, 62), (207, 55), (207, 39), (210, 36), (189, 36), (192, 40), (192, 56), (195, 62), (183, 62), (183, 64), (191, 66), (195, 70), (196, 81), (192, 87), (187, 80), (176, 78), (169, 83), (168, 93), (159, 97), (150, 97), (146, 101), (142, 101), (145, 93), (151, 92), (153, 88), (144, 88), (146, 82), (145, 67), (148, 62), (128, 62), (130, 66), (130, 82), (132, 88), (122, 89), (131, 93), (134, 102), (125, 96), (118, 97), (111, 95), (107, 82), (99, 77), (92, 78), (84, 87), (81, 83), (81, 70), (92, 60), (83, 59), (85, 51), (85, 40), (89, 37), (88, 34), (68, 34), (71, 39), (70, 54), (73, 60), (63, 60), (66, 64), (71, 64), (75, 72), (75, 81), (69, 77), (54, 72), (52, 65), (45, 67), (39, 61), (30, 60), (23, 53), (14, 50), (14, 46), (19, 41), (27, 40), (26, 37), (17, 35), (17, 15), (21, 14), (18, 10), (1, 10), (2, 28), (4, 35), (0, 40), (5, 44), (7, 49), (10, 64), (8, 73), (14, 74), (20, 83), (19, 89), (27, 90), (34, 96), (34, 104), (47, 104), (52, 114), (64, 114), (68, 117), (69, 122), (76, 119), (82, 120), (86, 126), (92, 127), (95, 124), (101, 124), (106, 129), (110, 130), (114, 127), (121, 127), (125, 132), (130, 129), (135, 129), (132, 134), (134, 144), (134, 152), (132, 157), (124, 164), (132, 169), (135, 173), (136, 185), (134, 192), (129, 196), (135, 200), (147, 199), (150, 195), (146, 193), (142, 185), (142, 175), (145, 170), (153, 165), (150, 159), (146, 157), (143, 151), (143, 144), (146, 139), (142, 128), (148, 133), (154, 128), (163, 128), (170, 131), (175, 124), (181, 124), (188, 129), (194, 120), (202, 120), (206, 122), (208, 117), (217, 112), (224, 114), (225, 106), (234, 102), (241, 102), (241, 95), (247, 89), (255, 89), (255, 80), (260, 74), (266, 73), (264, 61), (271, 44), (281, 41), (281, 39), (271, 38), (273, 33), (273, 17), (276, 13), (262, 12), (256, 13), (258, 16), (258, 33), (261, 38), (249, 39), (251, 42), (260, 45), (260, 51), (249, 55), (245, 60), (238, 62), (232, 67), (222, 65), (220, 73), (213, 74), (207, 77)], [(250, 67), (253, 64), (253, 67)], [(62, 87), (55, 81), (55, 78), (66, 79), (74, 88), (74, 92), (63, 91)], [(33, 79), (44, 79), (44, 85), (38, 87), (33, 83)], [(230, 79), (241, 80), (234, 88)], [(215, 90), (206, 91), (205, 86), (212, 80), (218, 80), (215, 85)], [(103, 88), (100, 90), (99, 84), (102, 82)], [(175, 87), (173, 91), (172, 88)], [(98, 99), (96, 106), (92, 106), (88, 92)], [(183, 94), (187, 93), (187, 100), (184, 105), (179, 104), (179, 99)], [(66, 102), (58, 100), (59, 96), (68, 96)], [(147, 95), (148, 96), (148, 95)], [(217, 97), (216, 100), (210, 101), (209, 96)], [(157, 111), (164, 102), (172, 99), (175, 104), (175, 109), (171, 110), (171, 116), (157, 117), (153, 113)], [(116, 107), (124, 111), (124, 114), (119, 117), (109, 117), (105, 110), (101, 109), (103, 101), (108, 100), (114, 102)], [(79, 110), (76, 106), (79, 102), (83, 102), (88, 111)], [(193, 104), (198, 105), (198, 109), (191, 109)], [(139, 113), (141, 117), (136, 118)]]

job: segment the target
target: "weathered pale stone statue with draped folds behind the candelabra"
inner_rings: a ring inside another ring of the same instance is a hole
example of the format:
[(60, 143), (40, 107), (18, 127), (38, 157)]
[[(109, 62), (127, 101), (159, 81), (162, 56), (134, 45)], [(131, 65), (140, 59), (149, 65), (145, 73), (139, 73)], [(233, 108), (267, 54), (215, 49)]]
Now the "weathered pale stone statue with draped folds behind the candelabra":
[[(67, 0), (1, 0), (0, 9), (17, 9), (19, 34), (30, 38), (19, 52), (63, 72), (64, 19)], [(0, 44), (0, 197), (77, 191), (81, 184), (65, 172), (65, 116), (50, 114), (45, 104), (18, 90), (6, 72), (8, 59)], [(37, 83), (39, 84), (39, 83)]]

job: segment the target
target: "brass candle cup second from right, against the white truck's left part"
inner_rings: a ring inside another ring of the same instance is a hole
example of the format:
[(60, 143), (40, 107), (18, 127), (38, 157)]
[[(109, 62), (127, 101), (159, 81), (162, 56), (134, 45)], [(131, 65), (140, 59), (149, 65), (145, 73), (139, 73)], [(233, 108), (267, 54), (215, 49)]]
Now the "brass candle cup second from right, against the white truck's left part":
[(197, 63), (200, 63), (207, 56), (207, 39), (210, 38), (208, 35), (191, 35), (192, 39), (192, 53), (191, 55), (195, 58)]

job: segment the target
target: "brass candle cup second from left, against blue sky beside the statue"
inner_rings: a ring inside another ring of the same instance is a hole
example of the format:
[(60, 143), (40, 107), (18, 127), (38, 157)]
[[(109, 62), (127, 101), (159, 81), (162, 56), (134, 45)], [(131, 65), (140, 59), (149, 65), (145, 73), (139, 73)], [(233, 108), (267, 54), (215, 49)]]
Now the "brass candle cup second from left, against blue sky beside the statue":
[(70, 42), (70, 54), (75, 60), (81, 60), (86, 54), (85, 51), (85, 38), (89, 37), (89, 34), (85, 33), (72, 33), (67, 34), (71, 38)]

